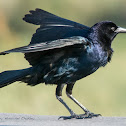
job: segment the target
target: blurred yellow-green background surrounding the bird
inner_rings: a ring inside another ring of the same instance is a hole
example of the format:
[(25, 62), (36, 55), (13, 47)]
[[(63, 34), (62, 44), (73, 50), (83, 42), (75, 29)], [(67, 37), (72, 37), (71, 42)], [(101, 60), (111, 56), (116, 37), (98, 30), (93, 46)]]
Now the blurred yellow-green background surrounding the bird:
[[(70, 20), (92, 26), (111, 20), (126, 27), (126, 0), (0, 0), (0, 51), (27, 45), (37, 26), (22, 20), (29, 10), (41, 8)], [(111, 63), (78, 81), (73, 96), (94, 113), (126, 116), (126, 34), (119, 34), (113, 44)], [(0, 72), (29, 67), (23, 54), (0, 56)], [(56, 86), (35, 87), (16, 82), (0, 89), (1, 113), (68, 115), (55, 98)], [(63, 98), (77, 113), (83, 111), (65, 95)]]

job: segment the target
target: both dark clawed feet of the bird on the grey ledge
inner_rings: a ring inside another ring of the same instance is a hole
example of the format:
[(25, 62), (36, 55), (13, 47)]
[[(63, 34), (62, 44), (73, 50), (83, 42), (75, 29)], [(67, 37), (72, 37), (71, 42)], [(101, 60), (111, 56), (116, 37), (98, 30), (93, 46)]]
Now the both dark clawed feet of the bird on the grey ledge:
[(85, 114), (74, 114), (71, 116), (60, 116), (59, 119), (63, 119), (63, 120), (67, 120), (67, 119), (89, 119), (89, 118), (93, 118), (93, 117), (98, 117), (101, 116), (101, 114), (94, 114), (91, 112), (86, 112)]

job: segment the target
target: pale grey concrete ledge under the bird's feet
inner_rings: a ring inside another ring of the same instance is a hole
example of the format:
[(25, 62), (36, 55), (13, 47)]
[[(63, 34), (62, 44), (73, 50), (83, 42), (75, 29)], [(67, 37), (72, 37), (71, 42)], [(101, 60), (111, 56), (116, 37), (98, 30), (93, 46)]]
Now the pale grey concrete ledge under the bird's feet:
[(126, 117), (58, 120), (58, 116), (0, 113), (0, 126), (126, 126)]

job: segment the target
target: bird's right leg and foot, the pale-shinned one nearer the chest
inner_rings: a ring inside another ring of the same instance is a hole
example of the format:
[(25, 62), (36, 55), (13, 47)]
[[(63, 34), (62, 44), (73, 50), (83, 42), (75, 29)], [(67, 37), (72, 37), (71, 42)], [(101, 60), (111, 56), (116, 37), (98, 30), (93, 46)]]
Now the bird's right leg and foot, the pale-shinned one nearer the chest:
[(100, 116), (100, 114), (94, 114), (90, 112), (87, 108), (85, 108), (81, 103), (79, 103), (73, 96), (72, 96), (72, 89), (73, 89), (74, 83), (73, 84), (68, 84), (66, 88), (66, 94), (67, 96), (73, 100), (83, 111), (85, 114), (77, 115), (75, 118), (78, 119), (83, 119), (83, 118), (92, 118), (92, 117), (97, 117)]

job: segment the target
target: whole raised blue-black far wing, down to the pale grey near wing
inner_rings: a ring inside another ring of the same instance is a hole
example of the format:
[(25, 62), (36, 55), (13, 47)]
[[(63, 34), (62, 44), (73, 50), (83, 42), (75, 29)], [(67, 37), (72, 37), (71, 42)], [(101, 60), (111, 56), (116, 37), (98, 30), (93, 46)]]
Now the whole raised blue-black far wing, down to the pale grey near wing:
[(30, 14), (26, 14), (23, 20), (28, 23), (40, 25), (40, 28), (33, 35), (30, 44), (72, 36), (85, 37), (90, 29), (85, 25), (61, 18), (41, 9), (31, 10)]

